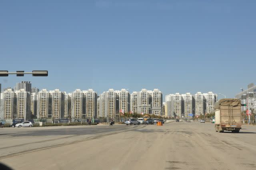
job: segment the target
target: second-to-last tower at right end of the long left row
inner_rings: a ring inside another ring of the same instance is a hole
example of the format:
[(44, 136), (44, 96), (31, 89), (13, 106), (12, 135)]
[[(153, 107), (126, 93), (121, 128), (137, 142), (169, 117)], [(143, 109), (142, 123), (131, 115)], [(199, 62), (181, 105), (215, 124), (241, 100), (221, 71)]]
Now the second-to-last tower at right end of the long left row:
[(141, 114), (151, 114), (151, 95), (150, 95), (151, 91), (148, 91), (146, 89), (142, 89), (139, 92), (139, 105), (138, 105), (138, 113)]

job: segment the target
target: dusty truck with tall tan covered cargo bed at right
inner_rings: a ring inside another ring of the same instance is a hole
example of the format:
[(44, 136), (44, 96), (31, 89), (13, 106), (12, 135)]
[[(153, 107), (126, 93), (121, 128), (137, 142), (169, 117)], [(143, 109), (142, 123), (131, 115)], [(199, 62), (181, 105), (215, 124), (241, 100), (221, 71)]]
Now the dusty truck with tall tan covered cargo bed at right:
[(242, 128), (241, 102), (236, 98), (224, 98), (218, 100), (214, 105), (215, 110), (215, 130), (232, 133), (239, 133)]

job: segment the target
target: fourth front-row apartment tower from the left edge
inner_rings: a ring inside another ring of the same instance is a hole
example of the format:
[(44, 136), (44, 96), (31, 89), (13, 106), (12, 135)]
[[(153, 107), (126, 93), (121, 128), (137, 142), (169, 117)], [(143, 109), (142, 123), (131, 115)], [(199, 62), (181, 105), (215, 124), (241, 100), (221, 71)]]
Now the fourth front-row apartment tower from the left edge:
[(50, 90), (49, 94), (52, 100), (52, 118), (64, 118), (64, 93), (62, 93), (59, 89), (55, 89)]

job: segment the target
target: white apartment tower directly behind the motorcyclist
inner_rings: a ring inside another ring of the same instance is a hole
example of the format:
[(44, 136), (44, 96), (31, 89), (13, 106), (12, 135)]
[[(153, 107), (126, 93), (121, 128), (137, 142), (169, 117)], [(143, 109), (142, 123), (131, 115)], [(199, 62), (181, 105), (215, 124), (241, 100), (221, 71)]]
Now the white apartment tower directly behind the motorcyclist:
[(107, 116), (108, 118), (115, 118), (115, 115), (118, 112), (118, 95), (114, 89), (110, 88), (107, 91)]

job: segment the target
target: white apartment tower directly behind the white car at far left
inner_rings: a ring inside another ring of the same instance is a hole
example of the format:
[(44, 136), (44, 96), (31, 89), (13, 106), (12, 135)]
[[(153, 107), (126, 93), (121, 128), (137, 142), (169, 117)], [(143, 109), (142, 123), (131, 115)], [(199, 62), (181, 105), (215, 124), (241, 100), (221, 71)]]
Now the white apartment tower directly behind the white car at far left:
[(17, 118), (28, 119), (30, 118), (30, 93), (25, 89), (15, 91), (17, 96)]

